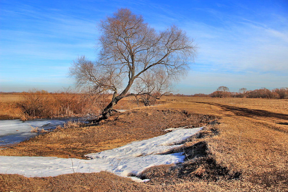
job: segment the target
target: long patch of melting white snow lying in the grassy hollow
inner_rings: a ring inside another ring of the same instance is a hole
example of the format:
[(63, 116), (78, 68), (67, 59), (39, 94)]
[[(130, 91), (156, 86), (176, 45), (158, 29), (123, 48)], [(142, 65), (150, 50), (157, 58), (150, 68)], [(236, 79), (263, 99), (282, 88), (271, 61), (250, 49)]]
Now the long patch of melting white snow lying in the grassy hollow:
[[(182, 141), (196, 134), (200, 129), (177, 129), (151, 139), (134, 141), (119, 148), (85, 155), (90, 157), (90, 160), (0, 156), (0, 173), (21, 174), (26, 177), (46, 177), (74, 172), (108, 171), (124, 177), (138, 176), (143, 170), (152, 166), (183, 162), (185, 155), (182, 153), (157, 154), (181, 146)], [(137, 177), (129, 178), (138, 182), (147, 181), (147, 179), (141, 180)]]

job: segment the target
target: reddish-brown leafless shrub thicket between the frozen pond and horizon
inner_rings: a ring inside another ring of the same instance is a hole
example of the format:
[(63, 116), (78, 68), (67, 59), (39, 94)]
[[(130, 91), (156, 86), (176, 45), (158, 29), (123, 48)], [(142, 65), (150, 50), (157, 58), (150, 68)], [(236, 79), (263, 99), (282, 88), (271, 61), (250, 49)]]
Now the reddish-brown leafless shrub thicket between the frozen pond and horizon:
[(49, 94), (32, 90), (24, 93), (17, 106), (22, 110), (22, 120), (35, 118), (71, 117), (91, 113), (93, 102), (84, 100), (82, 94), (72, 92)]

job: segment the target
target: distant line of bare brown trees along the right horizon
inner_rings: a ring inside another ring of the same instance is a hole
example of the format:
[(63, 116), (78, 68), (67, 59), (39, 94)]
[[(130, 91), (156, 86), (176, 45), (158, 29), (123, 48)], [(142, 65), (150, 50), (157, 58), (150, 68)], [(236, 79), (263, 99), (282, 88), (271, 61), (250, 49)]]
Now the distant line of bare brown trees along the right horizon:
[(255, 89), (247, 90), (246, 88), (240, 88), (238, 92), (230, 92), (228, 87), (220, 86), (211, 94), (198, 93), (194, 95), (183, 95), (169, 93), (166, 96), (192, 96), (192, 97), (214, 97), (214, 98), (225, 98), (225, 97), (238, 97), (238, 98), (267, 98), (267, 99), (288, 99), (288, 88), (276, 88), (276, 89)]

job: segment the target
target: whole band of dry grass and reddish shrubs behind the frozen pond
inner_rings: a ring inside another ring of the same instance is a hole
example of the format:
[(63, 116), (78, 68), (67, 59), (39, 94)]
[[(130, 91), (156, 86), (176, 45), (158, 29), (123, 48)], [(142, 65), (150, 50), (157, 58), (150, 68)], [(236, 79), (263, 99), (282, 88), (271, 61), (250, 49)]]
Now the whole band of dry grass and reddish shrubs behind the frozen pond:
[[(35, 119), (71, 117), (87, 114), (97, 108), (84, 102), (82, 94), (48, 93), (32, 90), (17, 94), (0, 94), (1, 119)], [(97, 105), (96, 105), (97, 106)]]

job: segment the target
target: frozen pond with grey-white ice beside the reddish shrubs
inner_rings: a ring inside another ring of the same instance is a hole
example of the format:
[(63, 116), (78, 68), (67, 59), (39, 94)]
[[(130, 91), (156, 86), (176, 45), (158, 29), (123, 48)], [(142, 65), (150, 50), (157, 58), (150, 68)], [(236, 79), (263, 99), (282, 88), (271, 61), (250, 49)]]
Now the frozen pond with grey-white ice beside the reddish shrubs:
[(0, 120), (0, 146), (10, 145), (34, 137), (39, 133), (31, 133), (31, 125), (33, 128), (38, 127), (44, 130), (54, 129), (57, 125), (69, 120), (78, 119), (33, 119), (28, 121), (15, 120)]

